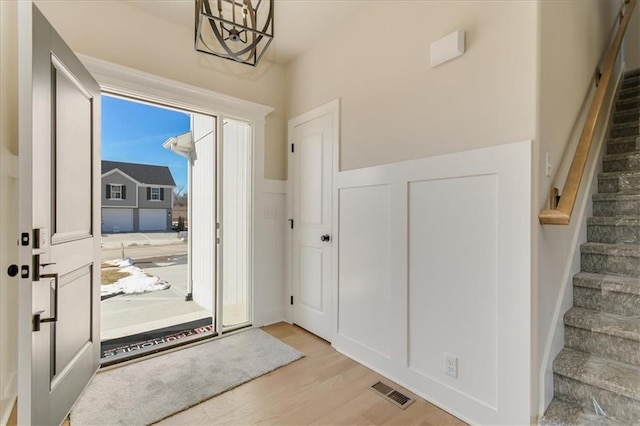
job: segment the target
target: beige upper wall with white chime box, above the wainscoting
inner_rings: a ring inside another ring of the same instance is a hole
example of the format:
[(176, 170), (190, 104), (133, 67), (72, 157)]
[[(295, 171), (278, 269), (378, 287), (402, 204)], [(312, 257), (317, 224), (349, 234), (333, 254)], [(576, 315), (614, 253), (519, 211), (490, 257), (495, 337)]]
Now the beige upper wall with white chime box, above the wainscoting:
[[(340, 98), (350, 170), (531, 140), (535, 1), (376, 1), (287, 66), (287, 117)], [(466, 31), (436, 68), (430, 43)]]

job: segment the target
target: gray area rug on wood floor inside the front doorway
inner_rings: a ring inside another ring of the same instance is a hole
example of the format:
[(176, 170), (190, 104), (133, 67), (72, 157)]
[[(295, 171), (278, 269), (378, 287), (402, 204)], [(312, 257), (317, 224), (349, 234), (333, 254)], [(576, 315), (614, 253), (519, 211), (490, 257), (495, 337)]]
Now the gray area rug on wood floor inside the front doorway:
[(71, 411), (71, 424), (151, 424), (303, 356), (250, 329), (98, 373)]

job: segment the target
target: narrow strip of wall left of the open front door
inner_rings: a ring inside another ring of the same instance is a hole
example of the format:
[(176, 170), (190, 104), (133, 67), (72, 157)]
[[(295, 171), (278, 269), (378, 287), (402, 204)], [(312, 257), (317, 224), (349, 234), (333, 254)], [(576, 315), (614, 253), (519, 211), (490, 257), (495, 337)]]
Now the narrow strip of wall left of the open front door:
[(14, 1), (0, 2), (0, 43), (0, 424), (4, 424), (17, 395), (18, 372), (18, 280), (6, 274), (10, 264), (18, 263), (18, 46)]

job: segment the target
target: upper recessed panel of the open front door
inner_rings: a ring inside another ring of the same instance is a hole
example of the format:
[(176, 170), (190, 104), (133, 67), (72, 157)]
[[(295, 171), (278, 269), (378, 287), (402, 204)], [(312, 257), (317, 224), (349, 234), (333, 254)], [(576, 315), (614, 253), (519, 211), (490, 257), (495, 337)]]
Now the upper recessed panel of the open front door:
[[(54, 238), (91, 233), (91, 98), (57, 61), (55, 70)], [(73, 171), (73, 172), (70, 172)]]

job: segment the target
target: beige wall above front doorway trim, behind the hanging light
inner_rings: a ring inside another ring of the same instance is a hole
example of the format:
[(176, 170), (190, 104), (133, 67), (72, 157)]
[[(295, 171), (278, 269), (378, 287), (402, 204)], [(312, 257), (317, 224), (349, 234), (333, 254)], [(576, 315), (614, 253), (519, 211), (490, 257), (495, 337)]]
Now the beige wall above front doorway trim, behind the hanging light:
[[(274, 107), (274, 112), (267, 118), (264, 173), (270, 179), (284, 179), (283, 68), (263, 61), (254, 69), (197, 53), (193, 48), (192, 27), (148, 13), (132, 3), (119, 0), (36, 1), (42, 13), (77, 53)], [(192, 9), (188, 13), (191, 19)]]

